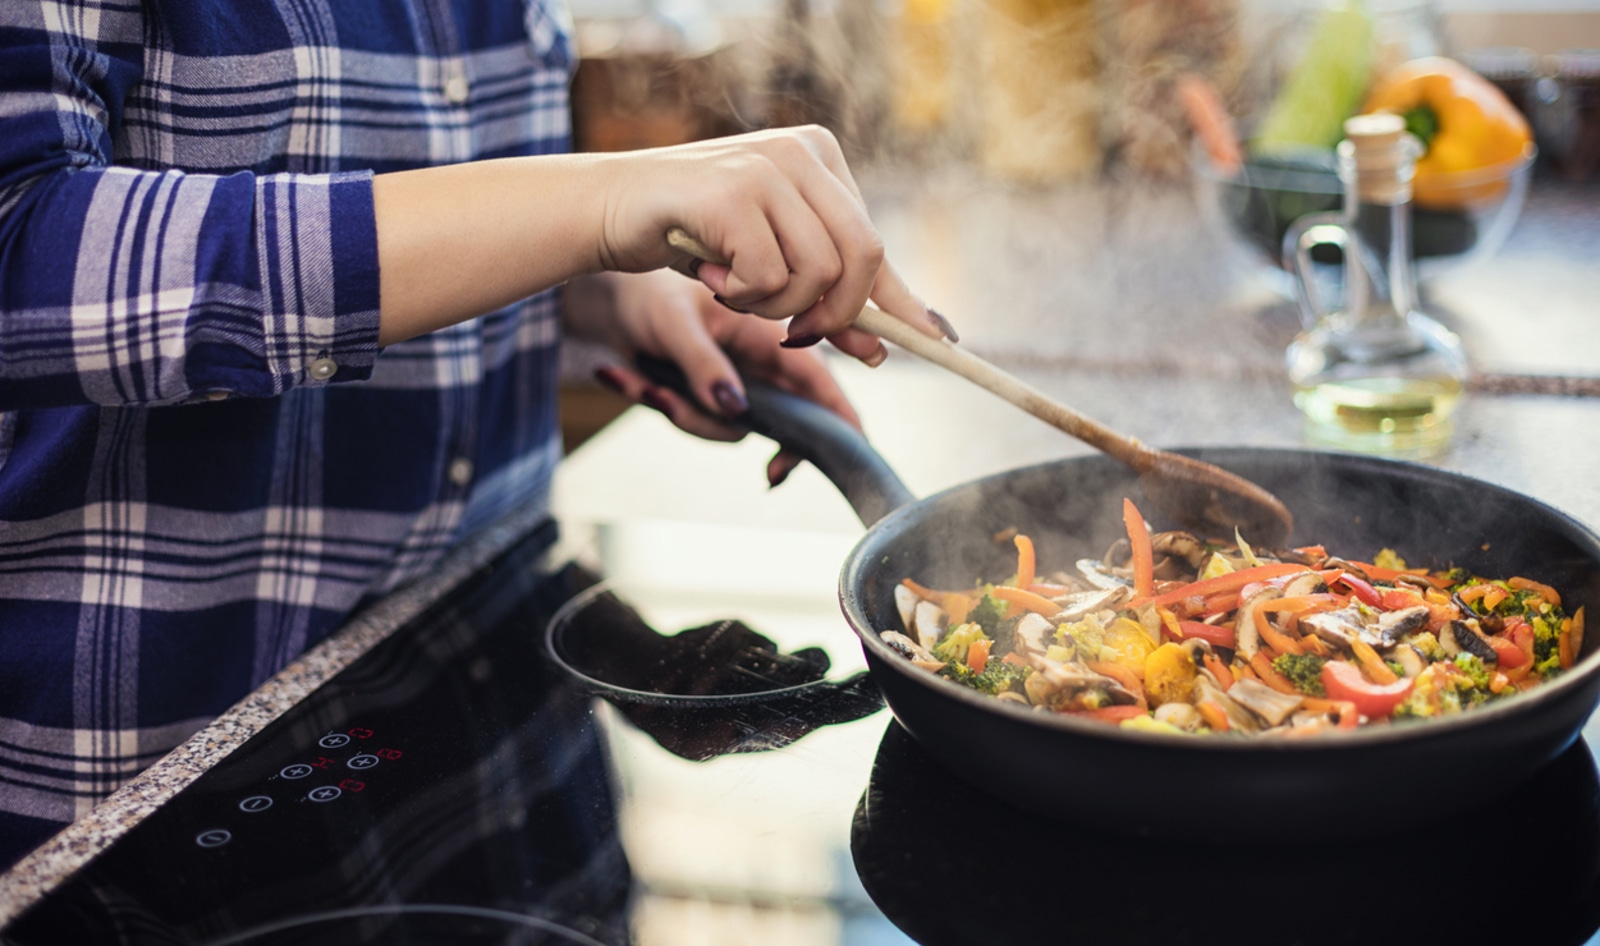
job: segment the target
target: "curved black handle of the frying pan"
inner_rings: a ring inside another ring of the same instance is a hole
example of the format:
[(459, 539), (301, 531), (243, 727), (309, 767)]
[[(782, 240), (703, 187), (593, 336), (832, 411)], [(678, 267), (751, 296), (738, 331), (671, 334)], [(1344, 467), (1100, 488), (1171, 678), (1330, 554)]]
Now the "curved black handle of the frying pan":
[[(682, 368), (674, 362), (638, 355), (635, 365), (645, 378), (670, 387), (690, 403), (698, 403)], [(888, 461), (867, 443), (866, 435), (834, 411), (760, 381), (746, 381), (744, 392), (750, 410), (734, 423), (774, 440), (822, 471), (856, 511), (862, 525), (870, 527), (915, 501)]]

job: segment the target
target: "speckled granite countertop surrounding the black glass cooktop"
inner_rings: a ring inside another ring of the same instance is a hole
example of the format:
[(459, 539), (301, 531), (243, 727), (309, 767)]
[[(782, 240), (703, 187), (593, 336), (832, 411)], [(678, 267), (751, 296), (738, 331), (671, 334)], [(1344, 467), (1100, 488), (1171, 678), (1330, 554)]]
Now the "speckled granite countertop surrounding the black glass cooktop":
[[(1282, 367), (1294, 306), (1253, 277), (1243, 247), (1198, 222), (1190, 190), (1026, 192), (958, 174), (864, 184), (890, 258), (971, 351), (1149, 443), (1301, 443)], [(1539, 181), (1499, 255), (1426, 287), (1427, 309), (1461, 333), (1477, 370), (1454, 443), (1432, 463), (1590, 525), (1600, 525), (1600, 440), (1574, 434), (1600, 431), (1597, 250), (1600, 186)], [(904, 352), (878, 370), (837, 359), (835, 368), (869, 435), (917, 495), (1090, 451)], [(808, 467), (765, 490), (768, 451), (754, 439), (694, 442), (634, 410), (558, 475), (555, 511), (563, 523), (672, 519), (859, 535), (843, 499)], [(650, 477), (632, 469), (638, 455), (653, 458)], [(541, 515), (526, 511), (477, 536), (0, 874), (0, 925)]]

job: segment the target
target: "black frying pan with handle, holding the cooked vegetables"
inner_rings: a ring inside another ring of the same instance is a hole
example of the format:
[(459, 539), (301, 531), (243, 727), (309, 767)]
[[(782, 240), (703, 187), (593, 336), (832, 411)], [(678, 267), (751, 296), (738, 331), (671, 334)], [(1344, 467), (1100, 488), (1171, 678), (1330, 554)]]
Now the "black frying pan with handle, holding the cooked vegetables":
[[(973, 786), (1059, 820), (1174, 839), (1274, 840), (1392, 834), (1507, 792), (1579, 735), (1600, 701), (1600, 634), (1570, 672), (1459, 716), (1312, 740), (1128, 732), (1013, 706), (917, 669), (878, 637), (901, 629), (902, 578), (968, 587), (1014, 570), (990, 536), (1032, 536), (1042, 570), (1098, 559), (1125, 535), (1138, 479), (1104, 456), (1029, 466), (914, 499), (861, 435), (810, 402), (750, 386), (750, 429), (795, 450), (843, 491), (866, 536), (840, 575), (840, 603), (901, 725)], [(1261, 483), (1296, 517), (1296, 544), (1363, 559), (1523, 575), (1568, 613), (1600, 613), (1600, 536), (1536, 499), (1472, 477), (1310, 450), (1179, 450)], [(1152, 522), (1157, 528), (1170, 523)], [(1248, 538), (1248, 536), (1246, 536)]]

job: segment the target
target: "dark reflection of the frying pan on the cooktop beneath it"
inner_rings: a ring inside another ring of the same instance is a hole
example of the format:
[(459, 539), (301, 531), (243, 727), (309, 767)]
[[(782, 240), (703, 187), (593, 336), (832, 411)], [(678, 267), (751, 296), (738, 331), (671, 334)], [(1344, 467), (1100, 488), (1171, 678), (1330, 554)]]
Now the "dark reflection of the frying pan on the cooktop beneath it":
[[(1182, 784), (1166, 797), (1182, 805)], [(1515, 792), (1410, 828), (1406, 812), (1427, 804), (1307, 810), (1286, 797), (1270, 845), (1134, 840), (992, 799), (894, 724), (851, 850), (872, 900), (926, 946), (1520, 946), (1579, 944), (1600, 928), (1600, 778), (1581, 740)], [(1310, 818), (1379, 820), (1392, 834), (1296, 842)]]

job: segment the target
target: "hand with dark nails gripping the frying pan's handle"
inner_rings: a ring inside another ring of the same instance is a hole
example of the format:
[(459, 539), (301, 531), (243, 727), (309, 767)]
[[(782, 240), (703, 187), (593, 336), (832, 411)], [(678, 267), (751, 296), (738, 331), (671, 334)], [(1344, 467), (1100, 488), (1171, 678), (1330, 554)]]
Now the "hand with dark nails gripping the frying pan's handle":
[[(741, 427), (718, 419), (738, 416), (747, 407), (741, 373), (814, 400), (861, 429), (861, 418), (821, 355), (779, 346), (786, 338), (781, 322), (733, 312), (696, 280), (669, 269), (608, 272), (573, 280), (565, 291), (566, 330), (605, 343), (621, 355), (621, 365), (606, 365), (595, 378), (696, 437), (730, 442), (744, 437)], [(638, 354), (664, 357), (683, 368), (699, 405), (635, 371)], [(880, 349), (877, 360), (883, 354)], [(768, 482), (776, 487), (798, 464), (798, 456), (779, 451), (766, 466)]]

